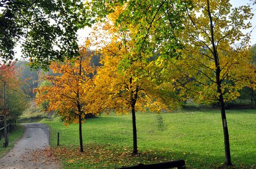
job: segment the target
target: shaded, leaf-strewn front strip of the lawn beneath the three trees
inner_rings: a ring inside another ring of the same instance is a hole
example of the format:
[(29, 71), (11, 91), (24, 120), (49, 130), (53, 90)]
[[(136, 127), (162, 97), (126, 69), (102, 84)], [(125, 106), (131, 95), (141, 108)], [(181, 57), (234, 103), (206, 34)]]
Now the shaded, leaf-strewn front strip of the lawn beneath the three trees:
[[(195, 154), (192, 152), (180, 152), (173, 150), (139, 150), (139, 153), (132, 154), (131, 147), (118, 145), (84, 145), (84, 153), (79, 153), (78, 146), (58, 146), (52, 148), (63, 162), (63, 167), (72, 168), (120, 168), (134, 166), (139, 163), (153, 164), (184, 159), (187, 168), (227, 168), (223, 166), (224, 157), (212, 155)], [(252, 168), (253, 164), (236, 163), (228, 168)], [(255, 154), (250, 158), (256, 158)]]

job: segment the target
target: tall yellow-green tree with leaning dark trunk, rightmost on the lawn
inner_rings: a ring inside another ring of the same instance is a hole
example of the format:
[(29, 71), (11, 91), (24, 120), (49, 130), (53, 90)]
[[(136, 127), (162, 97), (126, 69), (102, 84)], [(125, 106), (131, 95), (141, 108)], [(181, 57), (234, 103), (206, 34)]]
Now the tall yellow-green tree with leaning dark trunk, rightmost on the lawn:
[[(163, 69), (168, 72), (166, 78), (173, 79), (184, 96), (203, 103), (220, 103), (225, 165), (230, 166), (225, 102), (236, 99), (240, 95), (238, 91), (245, 86), (255, 88), (255, 83), (250, 83), (251, 79), (255, 82), (248, 45), (250, 33), (241, 31), (250, 28), (246, 20), (252, 14), (249, 6), (232, 8), (229, 1), (223, 0), (194, 0), (193, 5), (184, 17), (184, 31), (176, 34), (184, 46), (181, 56), (171, 58), (163, 51), (163, 58), (169, 60)], [(240, 43), (236, 46), (237, 41)]]

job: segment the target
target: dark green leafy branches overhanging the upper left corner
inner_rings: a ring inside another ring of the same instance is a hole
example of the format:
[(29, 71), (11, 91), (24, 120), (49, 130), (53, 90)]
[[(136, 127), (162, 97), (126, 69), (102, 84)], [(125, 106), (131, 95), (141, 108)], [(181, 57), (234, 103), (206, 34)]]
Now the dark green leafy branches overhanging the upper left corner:
[(76, 31), (93, 21), (88, 3), (72, 0), (0, 1), (0, 55), (14, 59), (14, 47), (32, 65), (47, 69), (50, 60), (78, 55)]

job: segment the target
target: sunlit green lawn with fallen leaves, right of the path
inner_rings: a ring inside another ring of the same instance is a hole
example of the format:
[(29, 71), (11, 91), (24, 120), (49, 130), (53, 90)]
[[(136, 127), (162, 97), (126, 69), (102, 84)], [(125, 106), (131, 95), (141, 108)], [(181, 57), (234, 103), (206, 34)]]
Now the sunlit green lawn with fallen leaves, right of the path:
[[(256, 111), (227, 110), (234, 168), (256, 168)], [(78, 124), (59, 118), (50, 126), (50, 144), (63, 168), (117, 168), (178, 159), (187, 168), (223, 167), (224, 139), (219, 110), (136, 113), (138, 155), (133, 150), (131, 115), (101, 115), (83, 124), (84, 153), (79, 153)], [(57, 132), (60, 144), (57, 145)]]

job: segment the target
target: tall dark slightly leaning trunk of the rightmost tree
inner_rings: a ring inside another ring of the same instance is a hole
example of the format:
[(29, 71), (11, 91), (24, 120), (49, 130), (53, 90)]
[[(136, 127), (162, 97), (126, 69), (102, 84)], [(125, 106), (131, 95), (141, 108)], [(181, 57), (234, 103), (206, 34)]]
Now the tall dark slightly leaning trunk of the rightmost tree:
[(209, 0), (207, 0), (207, 11), (208, 11), (208, 16), (209, 16), (209, 21), (210, 21), (212, 55), (214, 56), (214, 61), (215, 61), (217, 93), (219, 94), (219, 103), (220, 103), (220, 108), (221, 108), (220, 109), (221, 110), (221, 119), (222, 119), (223, 132), (224, 132), (225, 166), (232, 166), (230, 146), (229, 146), (228, 124), (227, 124), (227, 118), (226, 118), (226, 113), (225, 113), (225, 104), (224, 104), (224, 99), (223, 99), (223, 92), (221, 91), (221, 80), (220, 80), (221, 69), (220, 69), (219, 56), (218, 56), (218, 53), (217, 53), (217, 48), (215, 46), (214, 24), (212, 23), (212, 16), (211, 16)]

